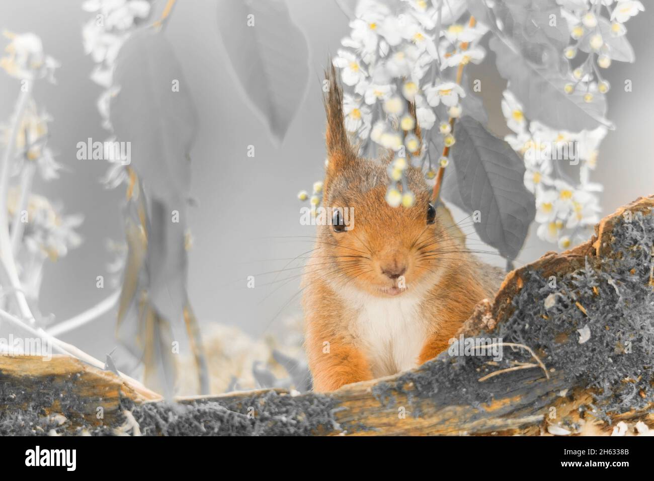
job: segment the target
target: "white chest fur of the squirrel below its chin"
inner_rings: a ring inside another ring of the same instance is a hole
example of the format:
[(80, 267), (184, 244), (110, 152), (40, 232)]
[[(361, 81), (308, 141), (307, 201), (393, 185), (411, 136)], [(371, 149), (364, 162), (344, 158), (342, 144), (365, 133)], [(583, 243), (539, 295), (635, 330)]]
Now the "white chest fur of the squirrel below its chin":
[(427, 336), (427, 323), (419, 312), (420, 298), (379, 298), (363, 293), (349, 297), (356, 310), (351, 334), (366, 352), (373, 376), (417, 366)]

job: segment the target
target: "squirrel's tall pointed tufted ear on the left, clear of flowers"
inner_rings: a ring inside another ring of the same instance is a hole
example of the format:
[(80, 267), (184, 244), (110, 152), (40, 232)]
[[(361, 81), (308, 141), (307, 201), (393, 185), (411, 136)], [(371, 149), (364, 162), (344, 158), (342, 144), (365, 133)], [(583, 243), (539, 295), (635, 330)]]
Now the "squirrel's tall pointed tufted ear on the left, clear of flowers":
[(330, 61), (330, 67), (325, 71), (324, 96), (325, 111), (327, 114), (327, 173), (332, 174), (354, 162), (356, 156), (345, 130), (343, 117), (343, 90), (336, 80), (336, 68)]

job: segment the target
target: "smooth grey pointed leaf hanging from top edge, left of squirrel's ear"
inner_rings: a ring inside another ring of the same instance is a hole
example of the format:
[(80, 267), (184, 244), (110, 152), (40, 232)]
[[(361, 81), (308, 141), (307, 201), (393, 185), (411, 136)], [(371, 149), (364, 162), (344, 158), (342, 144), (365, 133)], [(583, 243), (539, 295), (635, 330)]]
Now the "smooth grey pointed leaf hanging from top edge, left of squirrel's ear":
[(309, 79), (309, 46), (286, 2), (219, 0), (218, 31), (240, 86), (281, 142)]

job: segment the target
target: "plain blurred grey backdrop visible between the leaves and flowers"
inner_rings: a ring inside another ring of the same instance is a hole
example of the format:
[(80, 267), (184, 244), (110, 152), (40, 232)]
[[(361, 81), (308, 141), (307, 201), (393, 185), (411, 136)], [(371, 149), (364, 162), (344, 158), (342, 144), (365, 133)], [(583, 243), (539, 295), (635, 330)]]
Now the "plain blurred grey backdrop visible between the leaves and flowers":
[[(95, 101), (101, 88), (88, 79), (94, 63), (82, 50), (81, 28), (90, 14), (76, 0), (14, 0), (0, 3), (0, 27), (32, 31), (43, 39), (44, 51), (61, 62), (57, 85), (39, 82), (35, 98), (54, 122), (50, 147), (65, 166), (61, 179), (43, 183), (35, 192), (61, 201), (67, 213), (82, 213), (78, 230), (84, 243), (58, 262), (47, 262), (41, 290), (41, 311), (63, 321), (111, 294), (111, 287), (95, 287), (96, 276), (109, 276), (112, 255), (107, 239), (122, 241), (120, 205), (124, 187), (105, 190), (99, 178), (107, 165), (99, 160), (77, 160), (76, 144), (87, 137), (105, 139), (107, 131)], [(300, 269), (279, 274), (288, 262), (311, 249), (311, 226), (299, 223), (298, 190), (311, 190), (321, 179), (324, 113), (320, 79), (328, 54), (335, 53), (347, 35), (348, 19), (334, 0), (288, 0), (292, 17), (304, 31), (311, 52), (309, 89), (298, 92), (300, 110), (284, 143), (275, 147), (266, 126), (245, 101), (234, 77), (216, 26), (216, 0), (179, 0), (165, 35), (171, 40), (186, 72), (186, 81), (199, 113), (194, 150), (192, 194), (199, 204), (190, 212), (194, 245), (190, 251), (188, 291), (203, 323), (237, 325), (254, 337), (279, 328), (284, 318), (298, 315)], [(614, 62), (606, 71), (611, 82), (608, 118), (617, 126), (601, 145), (593, 181), (602, 183), (604, 213), (634, 198), (654, 192), (652, 112), (654, 96), (654, 20), (652, 5), (627, 23), (636, 63)], [(494, 70), (492, 52), (485, 66), (472, 66), (470, 79), (482, 79), (483, 101), (490, 128), (508, 132), (500, 112), (506, 82)], [(633, 91), (623, 91), (625, 79)], [(18, 94), (19, 82), (0, 73), (0, 119), (6, 122)], [(254, 145), (256, 156), (247, 156)], [(555, 245), (538, 240), (532, 228), (518, 264), (530, 262)], [(292, 264), (297, 266), (298, 264)], [(503, 265), (500, 260), (498, 265)], [(247, 289), (247, 276), (256, 288)], [(273, 283), (280, 279), (282, 282)], [(116, 346), (115, 313), (62, 336), (103, 359)]]

